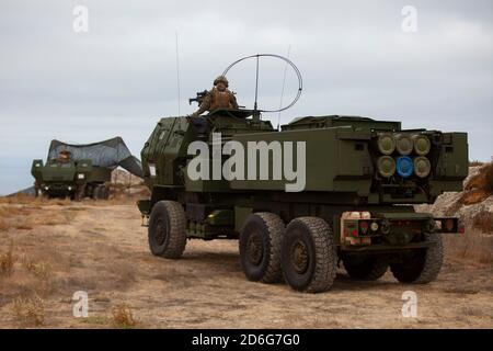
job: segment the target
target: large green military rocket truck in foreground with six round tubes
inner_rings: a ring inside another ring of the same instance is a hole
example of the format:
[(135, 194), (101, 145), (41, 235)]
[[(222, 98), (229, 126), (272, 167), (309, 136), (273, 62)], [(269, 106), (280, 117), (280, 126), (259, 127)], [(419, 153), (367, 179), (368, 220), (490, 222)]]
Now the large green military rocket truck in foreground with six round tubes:
[[(264, 143), (256, 160), (236, 167), (256, 176), (266, 167), (270, 177), (191, 177), (198, 152), (190, 148), (197, 140), (210, 147), (210, 157), (202, 156), (208, 171), (232, 154), (219, 151), (214, 165), (215, 146)], [(289, 180), (271, 177), (276, 163), (289, 161), (274, 141), (305, 143), (301, 191), (286, 191)], [(390, 268), (399, 282), (428, 283), (442, 268), (443, 234), (463, 231), (458, 218), (416, 213), (413, 205), (462, 189), (466, 133), (340, 115), (298, 117), (278, 131), (259, 111), (218, 110), (161, 118), (141, 160), (151, 196), (138, 207), (152, 254), (179, 259), (187, 239), (239, 239), (251, 281), (284, 279), (296, 291), (319, 293), (333, 285), (341, 265), (353, 279), (377, 280)]]

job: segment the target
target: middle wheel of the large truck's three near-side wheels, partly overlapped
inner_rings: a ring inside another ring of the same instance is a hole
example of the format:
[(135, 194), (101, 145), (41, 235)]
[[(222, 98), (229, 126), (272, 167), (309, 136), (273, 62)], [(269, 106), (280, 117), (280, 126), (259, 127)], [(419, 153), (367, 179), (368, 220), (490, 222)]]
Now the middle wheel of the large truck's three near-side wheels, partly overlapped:
[(280, 241), (284, 223), (273, 213), (250, 215), (240, 235), (240, 260), (250, 281), (276, 283), (280, 270)]

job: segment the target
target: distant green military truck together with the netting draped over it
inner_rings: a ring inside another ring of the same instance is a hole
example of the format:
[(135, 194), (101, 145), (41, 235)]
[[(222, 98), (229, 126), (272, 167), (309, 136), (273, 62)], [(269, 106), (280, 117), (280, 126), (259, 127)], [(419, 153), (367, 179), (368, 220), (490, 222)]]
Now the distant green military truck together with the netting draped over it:
[[(65, 152), (70, 156), (60, 158)], [(140, 161), (131, 156), (121, 137), (83, 145), (51, 140), (46, 165), (42, 159), (35, 159), (32, 163), (35, 194), (76, 201), (87, 196), (108, 199), (106, 183), (118, 166), (142, 177)]]

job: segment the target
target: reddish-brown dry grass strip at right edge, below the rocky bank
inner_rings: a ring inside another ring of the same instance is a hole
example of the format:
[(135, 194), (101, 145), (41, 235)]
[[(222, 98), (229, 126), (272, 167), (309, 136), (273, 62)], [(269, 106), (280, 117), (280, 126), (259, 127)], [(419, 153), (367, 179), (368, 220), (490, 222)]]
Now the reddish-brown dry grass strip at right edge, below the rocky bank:
[(470, 230), (461, 236), (444, 236), (447, 257), (471, 262), (493, 263), (493, 237)]

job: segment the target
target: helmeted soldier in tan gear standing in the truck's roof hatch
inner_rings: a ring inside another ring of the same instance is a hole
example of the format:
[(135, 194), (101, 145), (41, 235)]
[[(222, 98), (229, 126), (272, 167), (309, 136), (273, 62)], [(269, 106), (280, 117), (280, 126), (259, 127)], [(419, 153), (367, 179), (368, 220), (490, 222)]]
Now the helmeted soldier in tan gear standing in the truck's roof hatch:
[(196, 117), (206, 111), (214, 111), (218, 109), (238, 110), (237, 98), (228, 89), (228, 79), (225, 76), (219, 76), (214, 80), (214, 88), (207, 92), (202, 101), (198, 110), (192, 116)]

